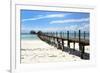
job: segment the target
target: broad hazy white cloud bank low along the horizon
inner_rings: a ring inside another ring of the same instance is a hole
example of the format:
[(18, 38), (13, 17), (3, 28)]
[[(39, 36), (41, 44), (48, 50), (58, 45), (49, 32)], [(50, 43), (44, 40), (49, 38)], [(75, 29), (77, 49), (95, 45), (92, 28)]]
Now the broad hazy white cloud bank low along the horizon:
[(30, 32), (31, 30), (35, 30), (35, 31), (43, 31), (43, 32), (59, 32), (59, 31), (89, 31), (89, 24), (80, 24), (80, 25), (70, 25), (70, 26), (66, 26), (66, 27), (49, 27), (49, 28), (34, 28), (34, 27), (26, 27), (26, 28), (22, 28), (21, 31), (22, 32)]

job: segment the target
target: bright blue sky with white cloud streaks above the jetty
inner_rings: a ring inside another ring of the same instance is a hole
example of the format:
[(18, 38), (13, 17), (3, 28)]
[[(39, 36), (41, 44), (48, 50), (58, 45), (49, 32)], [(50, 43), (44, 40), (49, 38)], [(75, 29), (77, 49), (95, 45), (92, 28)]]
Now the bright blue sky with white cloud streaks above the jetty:
[(82, 12), (21, 10), (21, 33), (35, 31), (89, 31), (90, 15)]

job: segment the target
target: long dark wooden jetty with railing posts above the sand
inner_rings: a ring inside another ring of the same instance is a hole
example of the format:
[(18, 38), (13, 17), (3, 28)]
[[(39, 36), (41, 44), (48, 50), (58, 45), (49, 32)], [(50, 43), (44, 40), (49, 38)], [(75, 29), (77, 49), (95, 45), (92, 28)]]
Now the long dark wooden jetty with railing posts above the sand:
[[(76, 32), (73, 33), (73, 38), (71, 38), (69, 31), (66, 32), (67, 35), (64, 35), (64, 32), (38, 32), (38, 37), (47, 42), (48, 44), (57, 47), (57, 49), (61, 49), (62, 51), (65, 50), (65, 44), (64, 41), (67, 41), (67, 50), (70, 48), (70, 43), (73, 43), (73, 52), (75, 50), (75, 43), (79, 43), (79, 53), (81, 59), (89, 59), (84, 58), (85, 53), (85, 46), (89, 45), (89, 39), (86, 39), (86, 32), (83, 32), (84, 36), (81, 36), (81, 30), (78, 31), (78, 37), (76, 36)], [(75, 52), (74, 52), (75, 53)], [(75, 55), (75, 54), (74, 54)]]

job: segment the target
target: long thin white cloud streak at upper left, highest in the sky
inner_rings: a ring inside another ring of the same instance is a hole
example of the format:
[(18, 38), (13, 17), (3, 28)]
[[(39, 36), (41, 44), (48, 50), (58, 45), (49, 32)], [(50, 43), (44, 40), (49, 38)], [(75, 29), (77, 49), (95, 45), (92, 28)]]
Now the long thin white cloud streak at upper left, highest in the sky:
[(38, 20), (38, 19), (44, 19), (44, 18), (61, 18), (64, 17), (66, 14), (49, 14), (49, 15), (39, 15), (36, 18), (28, 18), (23, 19), (22, 21), (30, 21), (30, 20)]

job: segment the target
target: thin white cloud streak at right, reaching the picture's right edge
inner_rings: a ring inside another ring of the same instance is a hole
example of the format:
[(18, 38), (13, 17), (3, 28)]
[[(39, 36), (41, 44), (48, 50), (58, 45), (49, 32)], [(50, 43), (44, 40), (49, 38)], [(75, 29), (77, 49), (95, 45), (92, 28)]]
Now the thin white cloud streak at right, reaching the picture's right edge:
[(69, 22), (85, 22), (85, 21), (89, 21), (89, 18), (56, 20), (56, 21), (51, 21), (50, 24), (63, 24)]

